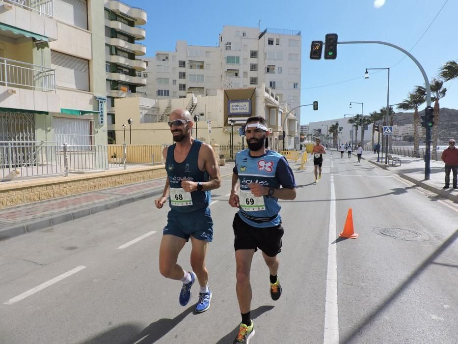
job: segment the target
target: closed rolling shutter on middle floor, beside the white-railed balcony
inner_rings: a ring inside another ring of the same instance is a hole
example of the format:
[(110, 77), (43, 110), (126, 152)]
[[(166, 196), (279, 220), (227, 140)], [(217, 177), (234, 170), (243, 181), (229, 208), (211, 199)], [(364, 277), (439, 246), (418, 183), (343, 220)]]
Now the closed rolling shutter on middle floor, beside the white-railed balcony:
[(89, 61), (51, 51), (51, 68), (55, 69), (57, 86), (89, 91)]

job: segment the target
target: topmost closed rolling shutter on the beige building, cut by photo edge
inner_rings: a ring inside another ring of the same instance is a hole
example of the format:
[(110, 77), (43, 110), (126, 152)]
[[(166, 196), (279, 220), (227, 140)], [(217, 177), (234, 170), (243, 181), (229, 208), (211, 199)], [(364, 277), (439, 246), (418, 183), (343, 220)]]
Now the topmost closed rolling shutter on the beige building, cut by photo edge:
[(54, 19), (87, 30), (87, 1), (54, 0)]

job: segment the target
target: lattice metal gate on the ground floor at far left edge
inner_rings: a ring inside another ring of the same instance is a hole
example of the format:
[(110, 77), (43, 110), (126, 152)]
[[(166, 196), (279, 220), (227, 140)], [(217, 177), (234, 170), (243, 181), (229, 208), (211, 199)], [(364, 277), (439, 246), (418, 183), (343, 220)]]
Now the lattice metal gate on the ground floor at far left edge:
[(0, 141), (35, 141), (35, 114), (0, 111)]

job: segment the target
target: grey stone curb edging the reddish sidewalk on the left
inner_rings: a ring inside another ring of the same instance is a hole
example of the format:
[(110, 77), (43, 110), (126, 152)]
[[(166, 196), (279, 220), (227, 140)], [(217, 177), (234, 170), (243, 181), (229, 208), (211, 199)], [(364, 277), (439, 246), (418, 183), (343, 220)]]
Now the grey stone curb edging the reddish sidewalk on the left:
[[(226, 177), (228, 175), (232, 175), (231, 173), (222, 174), (222, 177)], [(80, 219), (82, 217), (99, 213), (104, 210), (114, 209), (124, 204), (133, 203), (136, 201), (141, 201), (156, 195), (162, 194), (163, 188), (156, 190), (156, 191), (147, 191), (141, 192), (134, 196), (128, 197), (120, 197), (118, 200), (110, 201), (108, 203), (101, 203), (101, 204), (93, 204), (91, 206), (80, 208), (73, 212), (66, 212), (60, 213), (55, 215), (50, 215), (47, 218), (37, 219), (35, 221), (30, 221), (27, 223), (23, 223), (21, 225), (15, 225), (10, 227), (4, 227), (0, 229), (0, 241), (12, 238), (14, 236), (27, 234), (28, 232), (32, 232), (39, 229), (45, 229), (51, 226), (59, 225), (64, 222)]]

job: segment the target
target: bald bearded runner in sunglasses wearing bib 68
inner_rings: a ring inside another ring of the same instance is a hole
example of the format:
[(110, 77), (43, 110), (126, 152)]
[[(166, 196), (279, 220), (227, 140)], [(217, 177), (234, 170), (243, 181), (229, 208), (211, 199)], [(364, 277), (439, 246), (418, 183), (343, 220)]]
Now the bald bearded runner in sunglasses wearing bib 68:
[[(154, 201), (158, 209), (167, 201), (170, 206), (159, 249), (159, 271), (164, 277), (183, 282), (179, 296), (182, 306), (188, 304), (197, 278), (200, 293), (194, 311), (202, 313), (209, 309), (212, 299), (205, 267), (208, 243), (213, 240), (210, 190), (219, 188), (221, 178), (212, 146), (191, 136), (193, 122), (189, 111), (174, 110), (169, 119), (175, 143), (162, 152), (167, 179), (162, 196)], [(187, 272), (177, 260), (189, 238), (192, 271)]]

